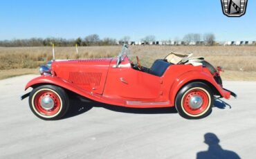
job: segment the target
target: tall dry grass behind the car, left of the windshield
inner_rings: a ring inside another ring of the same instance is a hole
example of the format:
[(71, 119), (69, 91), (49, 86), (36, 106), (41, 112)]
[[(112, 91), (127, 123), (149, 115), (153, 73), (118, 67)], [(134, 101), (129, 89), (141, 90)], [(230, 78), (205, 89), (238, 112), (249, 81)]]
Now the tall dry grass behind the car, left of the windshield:
[[(81, 47), (75, 53), (74, 47), (56, 47), (56, 59), (77, 59), (112, 57), (112, 51), (118, 53), (118, 47)], [(12, 68), (37, 68), (53, 58), (51, 47), (0, 48), (0, 70)]]

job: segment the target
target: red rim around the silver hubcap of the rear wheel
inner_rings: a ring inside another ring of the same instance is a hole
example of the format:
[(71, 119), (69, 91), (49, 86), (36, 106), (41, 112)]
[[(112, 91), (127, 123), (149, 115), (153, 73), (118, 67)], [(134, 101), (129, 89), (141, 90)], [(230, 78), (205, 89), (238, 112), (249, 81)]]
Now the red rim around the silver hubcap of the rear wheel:
[[(201, 104), (199, 108), (193, 108), (191, 101), (192, 97), (199, 97), (201, 98)], [(208, 109), (209, 106), (209, 97), (208, 93), (201, 89), (193, 89), (191, 91), (188, 91), (188, 93), (185, 93), (183, 97), (183, 108), (187, 113), (190, 113), (191, 115), (199, 115), (201, 113), (204, 113), (205, 110)]]

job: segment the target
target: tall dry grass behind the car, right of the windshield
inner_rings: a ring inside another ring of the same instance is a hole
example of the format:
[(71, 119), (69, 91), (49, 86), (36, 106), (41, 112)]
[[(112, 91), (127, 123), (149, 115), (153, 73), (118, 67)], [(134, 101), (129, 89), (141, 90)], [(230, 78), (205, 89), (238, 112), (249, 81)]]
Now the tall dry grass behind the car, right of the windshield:
[(203, 56), (214, 66), (223, 66), (230, 71), (256, 71), (255, 46), (144, 46), (134, 47), (134, 53), (147, 66), (154, 59), (165, 57), (170, 51), (179, 53), (193, 53), (194, 56)]

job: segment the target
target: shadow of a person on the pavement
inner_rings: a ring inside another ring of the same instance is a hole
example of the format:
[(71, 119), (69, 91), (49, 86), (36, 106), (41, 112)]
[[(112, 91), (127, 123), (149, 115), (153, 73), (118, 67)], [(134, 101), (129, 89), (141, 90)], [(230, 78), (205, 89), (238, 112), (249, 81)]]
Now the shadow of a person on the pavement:
[(219, 145), (219, 138), (214, 133), (205, 133), (204, 135), (204, 142), (208, 144), (207, 151), (200, 151), (196, 153), (196, 159), (213, 159), (213, 158), (232, 158), (237, 159), (240, 158), (237, 153), (230, 150), (222, 149), (221, 145)]

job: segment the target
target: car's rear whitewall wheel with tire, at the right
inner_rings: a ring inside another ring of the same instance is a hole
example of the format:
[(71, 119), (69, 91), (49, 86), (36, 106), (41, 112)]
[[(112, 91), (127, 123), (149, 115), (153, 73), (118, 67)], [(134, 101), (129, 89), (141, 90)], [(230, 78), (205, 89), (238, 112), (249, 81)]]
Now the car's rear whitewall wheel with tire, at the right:
[(183, 118), (205, 118), (212, 111), (211, 88), (202, 82), (192, 82), (181, 88), (176, 95), (176, 110)]

